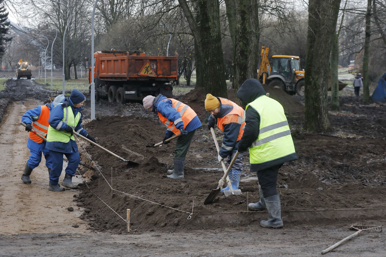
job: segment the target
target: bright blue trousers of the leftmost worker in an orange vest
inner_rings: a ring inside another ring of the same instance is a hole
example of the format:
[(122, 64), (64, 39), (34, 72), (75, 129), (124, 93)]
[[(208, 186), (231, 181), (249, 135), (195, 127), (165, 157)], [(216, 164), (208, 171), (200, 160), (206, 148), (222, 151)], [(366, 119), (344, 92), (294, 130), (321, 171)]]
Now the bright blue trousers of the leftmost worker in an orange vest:
[(43, 154), (44, 158), (46, 158), (47, 168), (51, 169), (52, 167), (51, 155), (50, 155), (50, 151), (46, 148), (45, 141), (41, 143), (37, 143), (34, 140), (28, 138), (27, 147), (30, 152), (30, 156), (27, 161), (28, 167), (30, 167), (31, 169), (35, 169), (37, 166), (39, 166), (42, 160), (42, 154)]

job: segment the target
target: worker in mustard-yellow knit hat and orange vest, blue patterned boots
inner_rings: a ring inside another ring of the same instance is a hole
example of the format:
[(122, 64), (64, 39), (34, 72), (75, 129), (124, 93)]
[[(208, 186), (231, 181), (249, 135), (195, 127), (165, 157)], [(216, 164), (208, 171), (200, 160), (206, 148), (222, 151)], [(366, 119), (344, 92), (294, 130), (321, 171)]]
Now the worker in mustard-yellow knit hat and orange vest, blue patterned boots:
[[(225, 98), (215, 97), (211, 94), (207, 94), (205, 109), (210, 113), (208, 129), (214, 128), (215, 124), (217, 124), (218, 129), (224, 132), (217, 159), (219, 162), (224, 159), (230, 164), (237, 152), (239, 140), (244, 133), (245, 111), (236, 103)], [(243, 154), (244, 152), (239, 153), (232, 169), (229, 171), (232, 189), (239, 189)], [(224, 190), (229, 190), (229, 186), (223, 188), (221, 192)]]

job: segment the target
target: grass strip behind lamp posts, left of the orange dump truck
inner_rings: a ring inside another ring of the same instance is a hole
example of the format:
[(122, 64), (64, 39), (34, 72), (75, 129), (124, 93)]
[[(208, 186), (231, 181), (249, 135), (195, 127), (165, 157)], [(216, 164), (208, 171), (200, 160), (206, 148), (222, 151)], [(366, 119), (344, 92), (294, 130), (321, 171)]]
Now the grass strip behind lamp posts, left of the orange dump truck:
[[(36, 83), (46, 85), (47, 89), (62, 91), (63, 90), (63, 78), (52, 78), (52, 88), (51, 88), (51, 78), (46, 79), (47, 83), (44, 83), (44, 79), (35, 79)], [(88, 83), (88, 78), (79, 78), (79, 79), (68, 79), (64, 81), (64, 87), (66, 90), (77, 90), (87, 93), (90, 83)]]

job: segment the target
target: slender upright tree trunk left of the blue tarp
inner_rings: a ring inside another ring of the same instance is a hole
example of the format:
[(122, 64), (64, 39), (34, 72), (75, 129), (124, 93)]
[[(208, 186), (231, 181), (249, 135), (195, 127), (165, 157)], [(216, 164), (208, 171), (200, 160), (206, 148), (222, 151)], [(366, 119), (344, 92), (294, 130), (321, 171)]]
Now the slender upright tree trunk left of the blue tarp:
[(371, 37), (371, 0), (367, 0), (366, 29), (364, 37), (363, 52), (363, 103), (370, 103), (369, 92), (369, 55), (370, 55), (370, 37)]

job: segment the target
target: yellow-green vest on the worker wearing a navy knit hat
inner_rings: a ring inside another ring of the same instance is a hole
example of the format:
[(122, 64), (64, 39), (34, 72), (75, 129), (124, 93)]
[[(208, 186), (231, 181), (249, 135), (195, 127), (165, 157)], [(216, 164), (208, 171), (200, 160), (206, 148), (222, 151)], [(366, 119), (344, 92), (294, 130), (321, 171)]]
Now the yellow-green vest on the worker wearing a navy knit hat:
[[(62, 104), (62, 103), (60, 103)], [(59, 108), (59, 107), (58, 107)], [(72, 128), (75, 128), (76, 125), (78, 124), (79, 120), (81, 117), (81, 113), (78, 112), (76, 114), (76, 117), (74, 117), (74, 112), (70, 106), (65, 107), (63, 109), (63, 119), (61, 122), (59, 122), (59, 125), (56, 127), (57, 129), (61, 128), (61, 125), (63, 123), (66, 123)], [(70, 138), (71, 140), (74, 139), (74, 134), (70, 134), (69, 132), (66, 132), (65, 130), (57, 130), (51, 126), (48, 127), (48, 135), (47, 135), (47, 141), (48, 142), (63, 142), (67, 143), (69, 142)], [(79, 133), (79, 132), (78, 132)], [(71, 136), (70, 136), (71, 135)]]

